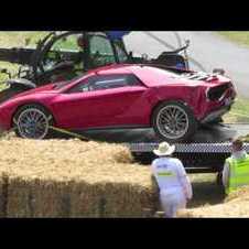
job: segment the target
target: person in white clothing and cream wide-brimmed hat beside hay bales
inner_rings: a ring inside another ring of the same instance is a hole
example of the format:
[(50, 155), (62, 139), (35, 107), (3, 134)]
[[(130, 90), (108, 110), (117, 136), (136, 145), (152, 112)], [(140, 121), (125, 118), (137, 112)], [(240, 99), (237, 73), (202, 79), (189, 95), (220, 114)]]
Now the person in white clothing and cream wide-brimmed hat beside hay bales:
[(152, 162), (152, 173), (160, 188), (160, 202), (165, 217), (176, 217), (181, 208), (185, 208), (192, 199), (193, 191), (186, 171), (178, 159), (171, 155), (175, 147), (167, 142), (159, 144), (153, 152), (159, 156)]

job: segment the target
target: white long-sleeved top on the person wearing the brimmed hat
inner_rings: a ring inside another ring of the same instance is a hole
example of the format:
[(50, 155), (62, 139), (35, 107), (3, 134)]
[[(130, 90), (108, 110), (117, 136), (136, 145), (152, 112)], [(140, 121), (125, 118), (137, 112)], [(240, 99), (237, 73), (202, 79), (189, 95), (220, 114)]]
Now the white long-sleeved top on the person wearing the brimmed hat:
[(181, 188), (187, 199), (192, 198), (192, 185), (178, 159), (155, 159), (152, 162), (152, 173), (158, 182), (160, 192), (170, 188)]

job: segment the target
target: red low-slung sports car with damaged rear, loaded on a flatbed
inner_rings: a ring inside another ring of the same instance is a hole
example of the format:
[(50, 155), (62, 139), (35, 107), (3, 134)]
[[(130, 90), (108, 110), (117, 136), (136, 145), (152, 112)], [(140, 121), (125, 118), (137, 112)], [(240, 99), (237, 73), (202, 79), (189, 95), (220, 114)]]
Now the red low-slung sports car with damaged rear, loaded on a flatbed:
[(218, 120), (236, 97), (229, 78), (149, 65), (111, 65), (69, 82), (20, 94), (0, 105), (0, 126), (44, 139), (54, 126), (72, 131), (153, 128), (169, 141), (188, 140)]

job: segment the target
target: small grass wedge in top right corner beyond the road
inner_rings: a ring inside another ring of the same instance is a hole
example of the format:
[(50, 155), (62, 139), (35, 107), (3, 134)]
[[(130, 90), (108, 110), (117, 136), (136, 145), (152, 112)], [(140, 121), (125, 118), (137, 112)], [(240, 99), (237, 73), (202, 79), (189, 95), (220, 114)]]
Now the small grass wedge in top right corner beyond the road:
[(248, 31), (220, 31), (218, 34), (238, 44), (249, 46)]

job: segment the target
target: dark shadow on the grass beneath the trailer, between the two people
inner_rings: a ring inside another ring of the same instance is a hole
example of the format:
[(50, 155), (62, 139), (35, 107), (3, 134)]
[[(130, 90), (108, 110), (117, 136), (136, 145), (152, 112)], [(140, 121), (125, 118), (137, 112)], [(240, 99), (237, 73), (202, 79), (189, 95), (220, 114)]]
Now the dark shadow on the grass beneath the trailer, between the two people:
[(216, 181), (193, 182), (192, 186), (194, 196), (187, 205), (188, 208), (220, 204), (225, 199), (224, 188)]

